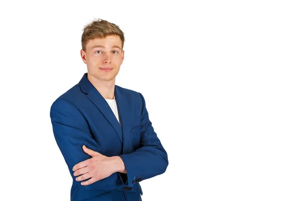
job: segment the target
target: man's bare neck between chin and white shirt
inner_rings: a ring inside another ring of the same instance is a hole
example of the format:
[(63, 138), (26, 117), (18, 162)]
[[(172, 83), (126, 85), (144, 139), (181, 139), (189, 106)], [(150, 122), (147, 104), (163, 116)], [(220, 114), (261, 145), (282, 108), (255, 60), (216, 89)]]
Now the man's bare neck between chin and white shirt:
[(115, 78), (109, 81), (99, 80), (89, 73), (87, 74), (88, 80), (91, 84), (98, 90), (98, 92), (106, 99), (113, 99), (114, 97), (114, 87), (115, 87)]

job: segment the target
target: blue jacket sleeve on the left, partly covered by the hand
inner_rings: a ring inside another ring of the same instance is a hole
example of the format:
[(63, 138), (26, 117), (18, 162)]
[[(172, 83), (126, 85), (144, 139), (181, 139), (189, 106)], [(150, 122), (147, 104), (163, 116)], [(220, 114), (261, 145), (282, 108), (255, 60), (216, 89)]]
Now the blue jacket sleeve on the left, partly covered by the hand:
[(55, 141), (68, 166), (73, 182), (86, 189), (107, 190), (111, 188), (114, 185), (113, 178), (117, 177), (117, 173), (90, 185), (81, 185), (81, 182), (89, 179), (77, 181), (75, 178), (78, 176), (73, 175), (72, 168), (75, 164), (92, 158), (84, 152), (83, 145), (100, 153), (100, 147), (92, 137), (89, 124), (83, 114), (70, 102), (58, 99), (51, 106), (50, 118)]

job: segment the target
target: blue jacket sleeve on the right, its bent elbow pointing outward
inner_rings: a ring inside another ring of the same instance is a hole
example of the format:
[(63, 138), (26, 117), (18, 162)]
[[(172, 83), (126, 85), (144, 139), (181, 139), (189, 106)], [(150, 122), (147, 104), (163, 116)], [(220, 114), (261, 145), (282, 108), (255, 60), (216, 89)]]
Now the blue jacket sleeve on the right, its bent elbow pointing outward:
[(145, 100), (141, 93), (139, 95), (142, 101), (140, 145), (132, 153), (119, 155), (127, 171), (126, 185), (129, 187), (144, 179), (163, 174), (169, 164), (167, 152), (149, 120)]

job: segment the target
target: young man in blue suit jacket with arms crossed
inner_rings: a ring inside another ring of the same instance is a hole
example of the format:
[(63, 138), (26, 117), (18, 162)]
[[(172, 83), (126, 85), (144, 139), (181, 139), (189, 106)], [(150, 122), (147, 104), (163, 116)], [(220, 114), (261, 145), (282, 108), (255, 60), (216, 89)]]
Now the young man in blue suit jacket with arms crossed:
[(88, 73), (51, 105), (54, 137), (73, 180), (70, 200), (141, 200), (139, 182), (167, 169), (142, 94), (115, 85), (123, 44), (113, 23), (85, 26)]

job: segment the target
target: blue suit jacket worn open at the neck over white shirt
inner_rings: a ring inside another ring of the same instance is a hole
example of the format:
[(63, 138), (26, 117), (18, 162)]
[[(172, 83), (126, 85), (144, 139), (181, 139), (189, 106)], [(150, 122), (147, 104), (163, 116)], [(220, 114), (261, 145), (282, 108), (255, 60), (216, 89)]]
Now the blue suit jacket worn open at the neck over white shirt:
[[(121, 126), (87, 73), (51, 105), (54, 137), (73, 180), (71, 200), (141, 200), (139, 181), (167, 169), (167, 152), (148, 118), (143, 96), (117, 85), (114, 93)], [(120, 156), (127, 173), (81, 185), (72, 167), (91, 158), (83, 145), (108, 157)]]

